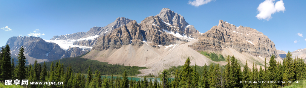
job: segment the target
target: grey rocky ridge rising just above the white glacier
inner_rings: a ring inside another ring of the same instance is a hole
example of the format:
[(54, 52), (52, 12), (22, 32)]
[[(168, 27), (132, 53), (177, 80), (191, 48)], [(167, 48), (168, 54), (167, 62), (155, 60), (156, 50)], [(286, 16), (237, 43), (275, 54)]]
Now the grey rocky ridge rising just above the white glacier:
[(113, 29), (119, 28), (123, 25), (129, 23), (130, 19), (125, 17), (118, 17), (114, 22), (106, 25), (105, 27), (92, 27), (89, 31), (85, 32), (78, 32), (73, 34), (61, 35), (61, 36), (53, 36), (50, 40), (77, 40), (81, 38), (87, 38), (89, 36), (96, 36), (96, 35), (108, 35), (112, 32)]

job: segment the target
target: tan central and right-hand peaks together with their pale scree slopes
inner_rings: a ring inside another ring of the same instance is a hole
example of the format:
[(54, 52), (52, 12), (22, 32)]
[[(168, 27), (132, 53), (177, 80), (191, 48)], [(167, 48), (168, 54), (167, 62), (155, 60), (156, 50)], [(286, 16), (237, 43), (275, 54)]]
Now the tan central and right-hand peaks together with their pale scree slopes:
[(200, 33), (183, 16), (167, 8), (138, 24), (131, 21), (109, 35), (100, 36), (84, 57), (150, 68), (142, 70), (141, 75), (156, 75), (170, 66), (183, 65), (187, 57), (191, 58), (192, 65), (226, 65), (225, 61), (215, 61), (201, 54), (203, 51), (223, 57), (234, 55), (241, 66), (246, 61), (264, 66), (264, 59), (268, 61), (273, 54), (282, 62), (275, 44), (256, 29), (237, 27), (220, 20), (218, 26)]

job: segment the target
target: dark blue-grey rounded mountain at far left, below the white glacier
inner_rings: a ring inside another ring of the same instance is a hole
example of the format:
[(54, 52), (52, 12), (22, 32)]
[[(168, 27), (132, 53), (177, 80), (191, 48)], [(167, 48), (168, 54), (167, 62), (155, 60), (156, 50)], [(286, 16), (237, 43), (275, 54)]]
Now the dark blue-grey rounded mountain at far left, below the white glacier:
[(65, 51), (58, 44), (46, 42), (39, 37), (33, 36), (17, 36), (11, 37), (6, 42), (11, 48), (11, 55), (17, 57), (19, 54), (19, 48), (23, 46), (24, 55), (27, 58), (28, 63), (34, 63), (35, 59), (38, 62), (52, 61), (55, 59), (61, 59), (66, 57), (74, 57), (76, 55), (85, 54), (89, 50), (82, 50), (80, 48), (69, 48), (69, 51)]

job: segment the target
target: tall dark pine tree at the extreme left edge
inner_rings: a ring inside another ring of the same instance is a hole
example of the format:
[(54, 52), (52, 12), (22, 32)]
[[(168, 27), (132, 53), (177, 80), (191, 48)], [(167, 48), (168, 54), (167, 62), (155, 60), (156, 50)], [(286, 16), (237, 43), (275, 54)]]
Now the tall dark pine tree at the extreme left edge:
[(11, 67), (11, 51), (9, 45), (7, 44), (2, 51), (2, 63), (1, 68), (2, 72), (0, 74), (0, 81), (11, 79), (12, 78), (12, 67)]

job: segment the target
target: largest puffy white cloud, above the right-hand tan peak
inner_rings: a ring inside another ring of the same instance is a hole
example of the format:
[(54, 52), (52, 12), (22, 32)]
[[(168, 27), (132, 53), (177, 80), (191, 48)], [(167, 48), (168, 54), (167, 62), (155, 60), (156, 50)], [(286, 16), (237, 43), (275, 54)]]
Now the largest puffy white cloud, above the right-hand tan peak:
[(274, 5), (274, 0), (266, 0), (264, 2), (261, 2), (259, 6), (257, 7), (257, 10), (259, 13), (257, 14), (257, 18), (259, 20), (265, 19), (269, 21), (271, 19), (271, 15), (275, 12), (279, 11), (285, 11), (285, 6), (283, 0), (277, 1)]

